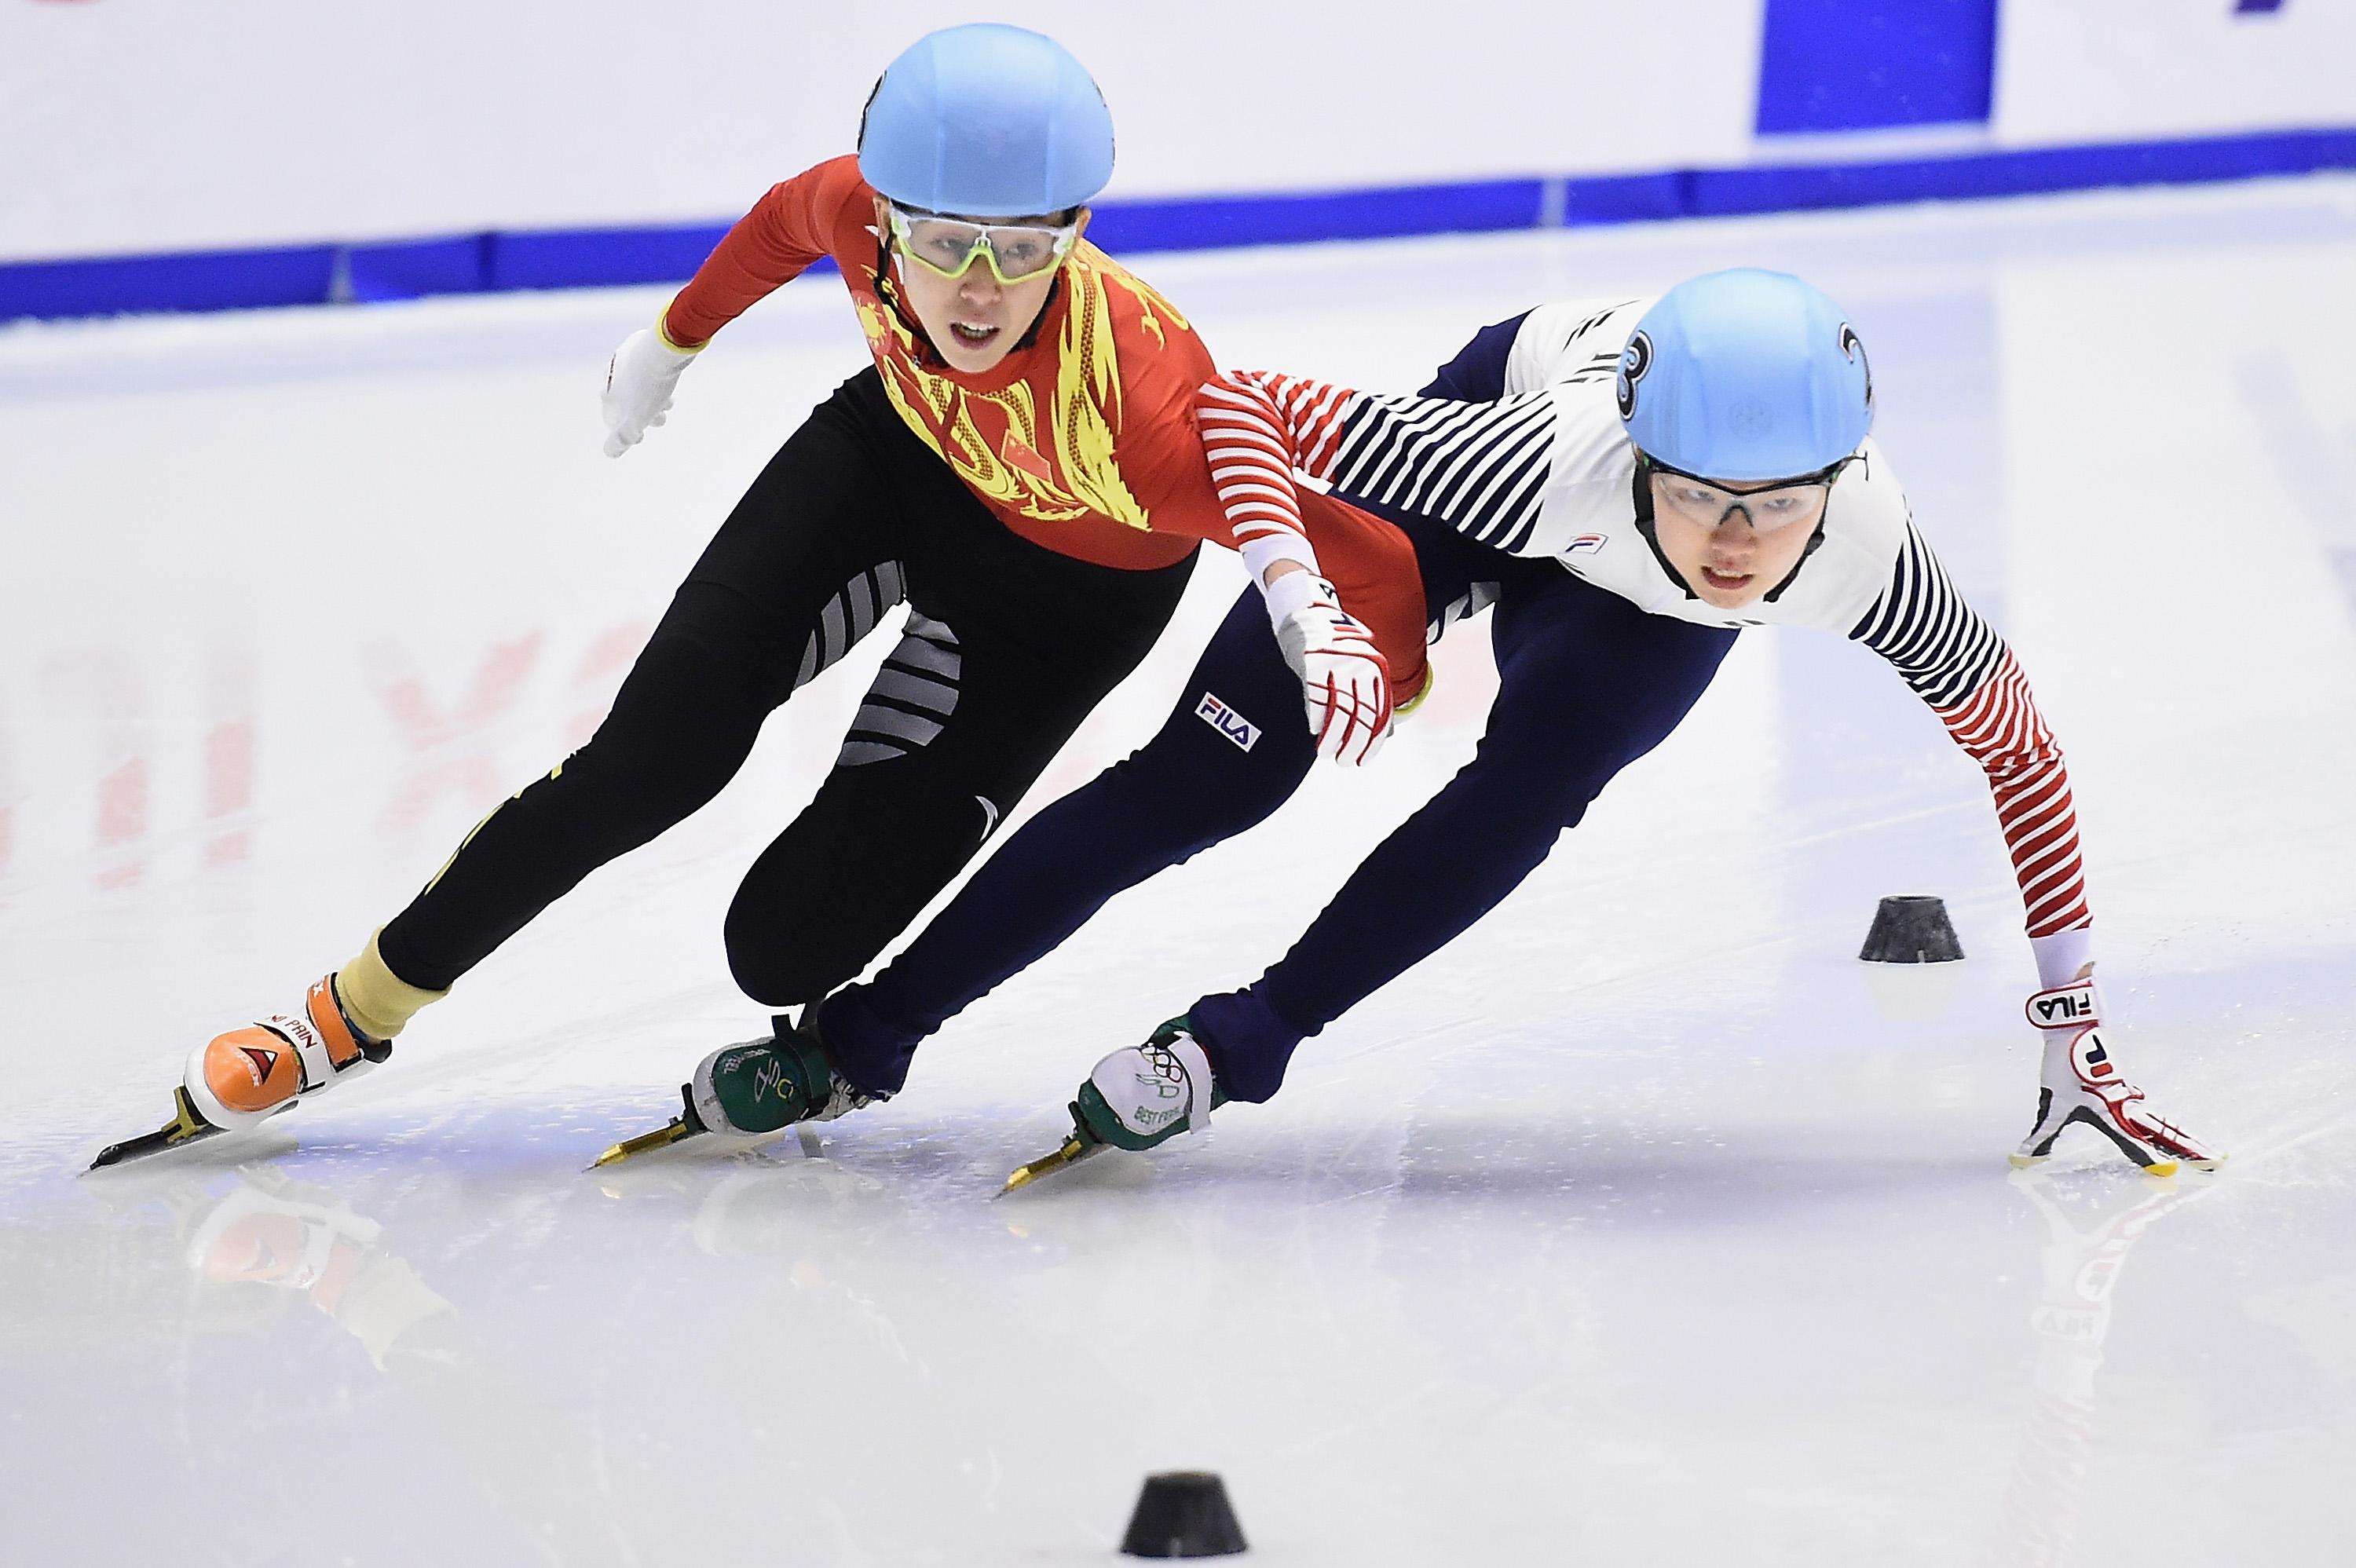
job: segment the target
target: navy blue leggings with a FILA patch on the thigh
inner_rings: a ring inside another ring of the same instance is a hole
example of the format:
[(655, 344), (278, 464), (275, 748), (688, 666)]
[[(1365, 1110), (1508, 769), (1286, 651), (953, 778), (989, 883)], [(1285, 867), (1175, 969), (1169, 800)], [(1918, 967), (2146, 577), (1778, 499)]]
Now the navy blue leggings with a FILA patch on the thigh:
[[(1430, 391), (1498, 396), (1515, 325), (1475, 339)], [(1475, 358), (1475, 374), (1463, 374)], [(1494, 584), (1498, 695), (1472, 760), (1359, 864), (1293, 949), (1246, 991), (1190, 1010), (1237, 1099), (1275, 1095), (1303, 1036), (1513, 892), (1602, 786), (1677, 727), (1734, 645), (1732, 631), (1644, 614), (1553, 560), (1395, 520), (1416, 544), (1425, 603)], [(1204, 716), (1206, 699), (1249, 720), (1249, 749)], [(1301, 683), (1246, 589), (1154, 739), (1008, 838), (869, 984), (825, 1001), (820, 1029), (836, 1069), (862, 1088), (898, 1090), (916, 1045), (947, 1017), (1053, 951), (1112, 895), (1265, 819), (1312, 763)]]

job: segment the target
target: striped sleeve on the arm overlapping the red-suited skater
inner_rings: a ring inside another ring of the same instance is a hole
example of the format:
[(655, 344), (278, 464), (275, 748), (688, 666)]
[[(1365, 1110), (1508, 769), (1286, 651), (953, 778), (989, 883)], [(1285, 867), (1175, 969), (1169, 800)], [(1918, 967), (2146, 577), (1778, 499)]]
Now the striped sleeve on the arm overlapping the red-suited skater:
[(1555, 400), (1543, 391), (1456, 403), (1242, 370), (1202, 388), (1197, 417), (1237, 544), (1246, 530), (1301, 527), (1298, 471), (1355, 501), (1524, 551), (1555, 454)]

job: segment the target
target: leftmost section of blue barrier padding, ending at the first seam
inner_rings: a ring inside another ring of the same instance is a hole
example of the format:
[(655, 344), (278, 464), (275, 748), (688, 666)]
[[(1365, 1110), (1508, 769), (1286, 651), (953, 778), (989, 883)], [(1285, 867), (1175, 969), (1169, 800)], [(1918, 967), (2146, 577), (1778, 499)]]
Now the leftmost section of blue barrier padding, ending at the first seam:
[(332, 280), (335, 245), (16, 261), (0, 266), (0, 320), (320, 304)]

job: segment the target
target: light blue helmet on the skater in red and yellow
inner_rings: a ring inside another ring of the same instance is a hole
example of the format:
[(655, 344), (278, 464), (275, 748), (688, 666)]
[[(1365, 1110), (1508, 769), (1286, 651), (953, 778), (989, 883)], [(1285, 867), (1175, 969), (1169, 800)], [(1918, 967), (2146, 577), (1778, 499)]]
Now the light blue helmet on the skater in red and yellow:
[(1063, 212), (1112, 179), (1112, 111), (1053, 38), (997, 21), (942, 28), (867, 99), (860, 174), (928, 212)]

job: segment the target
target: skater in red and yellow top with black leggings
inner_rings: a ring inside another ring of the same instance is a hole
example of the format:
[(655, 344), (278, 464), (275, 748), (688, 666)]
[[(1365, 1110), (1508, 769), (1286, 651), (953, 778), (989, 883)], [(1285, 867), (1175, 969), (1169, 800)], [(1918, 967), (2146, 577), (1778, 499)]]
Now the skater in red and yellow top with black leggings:
[[(728, 911), (735, 979), (770, 1008), (855, 977), (982, 848), (1152, 647), (1202, 539), (1246, 556), (1319, 751), (1366, 758), (1425, 678), (1414, 551), (1324, 497), (1298, 520), (1230, 520), (1194, 424), (1209, 351), (1081, 238), (1110, 172), (1103, 97), (1055, 42), (966, 26), (893, 61), (858, 158), (775, 186), (620, 346), (605, 450), (662, 424), (702, 346), (822, 257), (874, 365), (761, 471), (591, 742), (492, 810), (304, 1005), (198, 1048), (163, 1142), (384, 1059), (549, 902), (712, 800), (761, 720), (902, 600), (834, 770)], [(865, 1099), (777, 1036), (714, 1052), (690, 1104), (716, 1123)], [(766, 1099), (723, 1104), (740, 1090)]]

